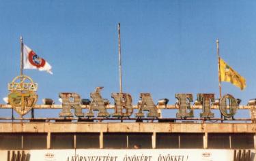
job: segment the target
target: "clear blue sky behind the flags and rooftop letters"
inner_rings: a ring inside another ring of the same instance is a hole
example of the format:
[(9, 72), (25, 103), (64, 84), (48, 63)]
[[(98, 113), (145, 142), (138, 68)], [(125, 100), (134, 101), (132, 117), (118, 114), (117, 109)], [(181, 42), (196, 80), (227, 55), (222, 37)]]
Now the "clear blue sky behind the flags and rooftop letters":
[[(123, 91), (137, 104), (150, 92), (156, 103), (175, 93), (215, 93), (216, 39), (221, 57), (246, 78), (247, 87), (223, 83), (246, 105), (256, 97), (255, 1), (1, 1), (0, 98), (19, 75), (20, 43), (53, 67), (53, 75), (25, 70), (38, 83), (38, 103), (59, 92), (89, 98), (97, 86), (111, 99), (119, 92), (118, 35), (121, 23)], [(3, 103), (0, 100), (0, 103)], [(197, 115), (199, 117), (199, 115)]]

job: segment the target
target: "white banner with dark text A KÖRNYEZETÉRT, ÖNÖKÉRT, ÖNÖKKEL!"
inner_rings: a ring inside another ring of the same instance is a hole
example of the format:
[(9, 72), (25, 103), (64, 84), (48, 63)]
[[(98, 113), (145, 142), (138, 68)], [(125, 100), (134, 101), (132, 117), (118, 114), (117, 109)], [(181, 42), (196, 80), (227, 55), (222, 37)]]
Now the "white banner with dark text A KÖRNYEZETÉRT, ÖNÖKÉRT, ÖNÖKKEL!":
[[(0, 151), (0, 160), (26, 161), (233, 161), (231, 149), (48, 149)], [(251, 160), (255, 150), (251, 151)]]

